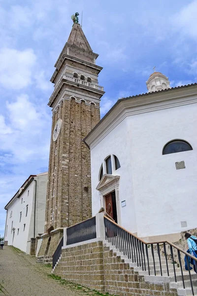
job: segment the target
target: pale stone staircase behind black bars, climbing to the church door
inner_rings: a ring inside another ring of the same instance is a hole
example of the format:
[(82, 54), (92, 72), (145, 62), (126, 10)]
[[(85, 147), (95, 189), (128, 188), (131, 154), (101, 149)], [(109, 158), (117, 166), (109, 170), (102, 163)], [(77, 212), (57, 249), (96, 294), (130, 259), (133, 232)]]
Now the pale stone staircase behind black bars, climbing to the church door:
[[(128, 259), (128, 256), (124, 255), (123, 252), (120, 252), (120, 250), (116, 249), (115, 246), (112, 246), (112, 244), (109, 243), (108, 241), (103, 241), (103, 245), (105, 245), (106, 247), (109, 247), (109, 249), (113, 251), (114, 256), (120, 256), (125, 263), (129, 263), (130, 267), (133, 267), (134, 271), (138, 272), (139, 275), (143, 275), (146, 282), (151, 282), (155, 284), (169, 283), (169, 287), (176, 289), (177, 294), (179, 296), (193, 295), (189, 272), (185, 271), (185, 268), (184, 268), (185, 266), (183, 266), (183, 276), (184, 276), (184, 283), (185, 283), (185, 289), (184, 289), (181, 268), (179, 267), (179, 264), (177, 263), (173, 264), (171, 260), (167, 260), (168, 271), (169, 271), (169, 276), (168, 276), (165, 258), (161, 256), (161, 264), (162, 264), (162, 275), (161, 275), (160, 260), (159, 260), (158, 252), (156, 250), (154, 250), (155, 269), (156, 269), (156, 275), (155, 275), (151, 248), (148, 248), (148, 257), (149, 257), (149, 266), (150, 266), (150, 275), (149, 275), (149, 272), (147, 270), (146, 271), (142, 270), (142, 267), (137, 266), (137, 263), (133, 263), (132, 259)], [(177, 281), (175, 281), (174, 268), (176, 271)], [(146, 266), (146, 269), (148, 269), (147, 266)], [(191, 270), (191, 278), (193, 283), (194, 295), (197, 296), (197, 274), (193, 269)]]

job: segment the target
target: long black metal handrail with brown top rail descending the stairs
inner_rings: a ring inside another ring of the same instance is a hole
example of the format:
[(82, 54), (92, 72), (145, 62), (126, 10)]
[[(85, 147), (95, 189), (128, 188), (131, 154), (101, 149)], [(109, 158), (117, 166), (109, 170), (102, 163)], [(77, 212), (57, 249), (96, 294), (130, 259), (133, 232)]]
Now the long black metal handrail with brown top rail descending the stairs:
[[(113, 222), (106, 216), (104, 216), (104, 226), (105, 226), (105, 239), (108, 240), (113, 246), (116, 247), (116, 249), (120, 250), (124, 255), (128, 257), (128, 259), (131, 259), (133, 263), (136, 263), (138, 267), (142, 268), (142, 271), (148, 271), (148, 274), (151, 275), (150, 272), (150, 258), (152, 255), (152, 260), (153, 260), (153, 267), (154, 267), (154, 275), (158, 275), (160, 273), (161, 276), (163, 276), (163, 271), (166, 269), (167, 271), (167, 276), (169, 276), (169, 256), (171, 257), (172, 264), (173, 264), (173, 274), (174, 274), (174, 279), (175, 283), (177, 282), (177, 272), (175, 268), (175, 263), (177, 263), (174, 260), (174, 255), (176, 254), (173, 252), (173, 248), (176, 249), (177, 251), (177, 258), (179, 261), (180, 265), (180, 271), (181, 271), (181, 277), (182, 277), (182, 283), (183, 283), (183, 288), (185, 289), (185, 279), (184, 279), (184, 274), (183, 274), (183, 267), (182, 267), (182, 261), (181, 261), (181, 253), (186, 255), (186, 262), (187, 262), (187, 267), (188, 267), (188, 272), (189, 272), (189, 278), (190, 278), (190, 284), (191, 284), (191, 289), (192, 289), (192, 294), (194, 294), (194, 288), (193, 288), (193, 282), (192, 282), (192, 277), (191, 277), (191, 272), (190, 272), (190, 263), (189, 259), (194, 259), (197, 261), (197, 258), (190, 255), (189, 253), (185, 252), (184, 250), (180, 249), (176, 245), (168, 242), (168, 241), (159, 241), (159, 242), (145, 242), (141, 238), (137, 237), (135, 234), (131, 233), (130, 231), (126, 230), (124, 227), (118, 225), (116, 222)], [(165, 263), (162, 264), (161, 260), (161, 244), (163, 245), (164, 248), (164, 258), (165, 258)], [(166, 244), (169, 245), (170, 249), (170, 255), (167, 254), (166, 252)], [(157, 247), (157, 253), (158, 253), (158, 259), (159, 259), (159, 266), (156, 265), (156, 260), (155, 260), (155, 255), (156, 253), (154, 252), (154, 245)], [(148, 246), (151, 247), (151, 254), (148, 252)], [(166, 265), (164, 267), (164, 265)], [(158, 266), (159, 270), (156, 270), (156, 267)], [(177, 266), (178, 267), (178, 266)]]

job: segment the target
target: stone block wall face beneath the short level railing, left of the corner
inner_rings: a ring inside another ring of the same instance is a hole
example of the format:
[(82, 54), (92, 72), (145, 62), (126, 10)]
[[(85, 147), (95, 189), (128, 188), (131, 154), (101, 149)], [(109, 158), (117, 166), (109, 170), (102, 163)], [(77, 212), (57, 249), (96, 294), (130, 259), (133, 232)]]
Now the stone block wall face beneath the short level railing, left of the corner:
[(55, 274), (70, 282), (104, 292), (102, 242), (63, 249)]

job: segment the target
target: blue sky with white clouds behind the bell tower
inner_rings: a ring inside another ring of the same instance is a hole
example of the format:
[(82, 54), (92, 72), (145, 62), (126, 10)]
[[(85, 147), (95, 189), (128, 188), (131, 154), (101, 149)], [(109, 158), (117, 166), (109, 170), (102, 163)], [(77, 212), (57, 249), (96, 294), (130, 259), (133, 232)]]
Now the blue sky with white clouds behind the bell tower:
[[(25, 3), (25, 4), (24, 4)], [(103, 116), (120, 97), (145, 93), (149, 75), (197, 82), (197, 0), (0, 0), (0, 234), (5, 204), (48, 170), (54, 64), (83, 10), (83, 31), (103, 67)]]

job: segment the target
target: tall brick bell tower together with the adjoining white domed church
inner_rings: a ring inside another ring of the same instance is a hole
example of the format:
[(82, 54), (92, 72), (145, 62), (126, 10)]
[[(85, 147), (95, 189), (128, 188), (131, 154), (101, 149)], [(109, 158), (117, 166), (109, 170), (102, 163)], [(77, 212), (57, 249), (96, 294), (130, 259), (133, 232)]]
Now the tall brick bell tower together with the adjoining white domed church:
[[(77, 15), (51, 77), (54, 91), (45, 231), (38, 256), (51, 258), (64, 227), (100, 207), (147, 242), (195, 229), (197, 84), (170, 88), (154, 72), (148, 93), (122, 98), (100, 120), (104, 94)], [(52, 232), (50, 232), (52, 231)], [(50, 237), (49, 234), (51, 233)]]

